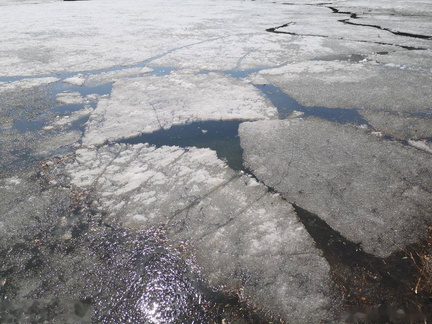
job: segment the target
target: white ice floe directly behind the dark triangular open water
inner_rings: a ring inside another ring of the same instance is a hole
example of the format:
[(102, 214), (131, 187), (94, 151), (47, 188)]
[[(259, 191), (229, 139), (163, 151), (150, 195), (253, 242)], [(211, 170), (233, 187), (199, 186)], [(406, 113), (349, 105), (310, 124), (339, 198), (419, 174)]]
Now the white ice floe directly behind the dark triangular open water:
[(111, 98), (98, 102), (83, 144), (102, 144), (193, 121), (277, 116), (276, 108), (254, 86), (221, 74), (134, 78), (114, 83)]

